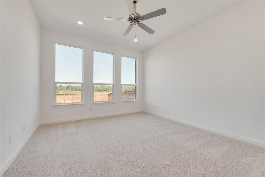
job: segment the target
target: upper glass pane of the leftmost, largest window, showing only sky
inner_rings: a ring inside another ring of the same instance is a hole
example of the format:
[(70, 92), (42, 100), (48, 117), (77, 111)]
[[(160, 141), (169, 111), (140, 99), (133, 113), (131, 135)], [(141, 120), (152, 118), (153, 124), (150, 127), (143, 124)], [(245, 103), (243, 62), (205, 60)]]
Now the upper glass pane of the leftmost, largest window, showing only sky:
[(83, 49), (55, 44), (55, 81), (82, 82)]

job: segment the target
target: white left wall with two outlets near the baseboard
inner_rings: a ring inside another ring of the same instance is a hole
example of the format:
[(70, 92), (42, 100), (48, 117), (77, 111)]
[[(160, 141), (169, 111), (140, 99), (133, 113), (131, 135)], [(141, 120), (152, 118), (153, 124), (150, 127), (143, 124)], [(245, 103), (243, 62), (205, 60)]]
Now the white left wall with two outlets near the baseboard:
[(39, 122), (39, 22), (29, 1), (1, 1), (1, 174)]

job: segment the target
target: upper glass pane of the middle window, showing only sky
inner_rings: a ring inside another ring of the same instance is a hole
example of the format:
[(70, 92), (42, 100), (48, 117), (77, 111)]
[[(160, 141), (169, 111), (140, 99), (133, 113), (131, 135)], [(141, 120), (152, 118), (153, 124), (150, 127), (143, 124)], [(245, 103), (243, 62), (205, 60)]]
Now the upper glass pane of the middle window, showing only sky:
[(94, 51), (94, 83), (113, 83), (113, 55)]

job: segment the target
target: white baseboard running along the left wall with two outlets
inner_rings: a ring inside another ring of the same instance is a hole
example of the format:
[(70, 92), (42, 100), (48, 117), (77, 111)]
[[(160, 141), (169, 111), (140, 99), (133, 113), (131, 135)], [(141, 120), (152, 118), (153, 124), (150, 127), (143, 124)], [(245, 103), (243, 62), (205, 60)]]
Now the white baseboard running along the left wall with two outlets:
[(29, 134), (29, 136), (21, 143), (21, 145), (16, 149), (16, 151), (11, 155), (11, 157), (4, 163), (3, 167), (0, 171), (0, 176), (3, 176), (8, 167), (11, 165), (11, 163), (15, 160), (16, 156), (20, 153), (20, 151), (24, 148), (24, 146), (27, 144), (31, 136), (34, 134), (34, 132), (39, 128), (40, 123), (32, 130), (32, 132)]

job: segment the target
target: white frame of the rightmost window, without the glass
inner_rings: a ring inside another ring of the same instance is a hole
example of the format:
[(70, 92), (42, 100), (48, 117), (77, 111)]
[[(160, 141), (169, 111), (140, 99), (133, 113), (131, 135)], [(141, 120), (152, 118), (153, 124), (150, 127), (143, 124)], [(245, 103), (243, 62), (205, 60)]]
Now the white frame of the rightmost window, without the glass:
[[(138, 58), (134, 58), (134, 57), (128, 57), (128, 56), (125, 56), (125, 55), (121, 55), (120, 57), (120, 72), (121, 72), (121, 77), (122, 77), (122, 57), (126, 57), (126, 58), (131, 58), (131, 59), (135, 59), (135, 84), (122, 84), (121, 83), (121, 89), (122, 89), (122, 86), (135, 86), (135, 99), (128, 99), (128, 100), (123, 100), (122, 97), (121, 97), (121, 102), (129, 102), (129, 101), (138, 101)], [(122, 81), (122, 79), (120, 80), (120, 82)]]

